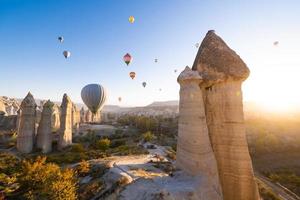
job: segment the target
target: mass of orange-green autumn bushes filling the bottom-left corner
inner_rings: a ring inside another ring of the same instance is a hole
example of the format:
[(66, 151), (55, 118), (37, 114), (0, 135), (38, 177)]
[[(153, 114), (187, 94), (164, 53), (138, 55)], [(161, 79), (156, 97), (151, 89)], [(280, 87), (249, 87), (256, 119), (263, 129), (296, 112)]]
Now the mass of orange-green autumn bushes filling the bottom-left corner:
[(4, 198), (76, 199), (74, 171), (46, 163), (46, 157), (19, 161), (12, 155), (2, 154), (0, 165), (0, 190)]

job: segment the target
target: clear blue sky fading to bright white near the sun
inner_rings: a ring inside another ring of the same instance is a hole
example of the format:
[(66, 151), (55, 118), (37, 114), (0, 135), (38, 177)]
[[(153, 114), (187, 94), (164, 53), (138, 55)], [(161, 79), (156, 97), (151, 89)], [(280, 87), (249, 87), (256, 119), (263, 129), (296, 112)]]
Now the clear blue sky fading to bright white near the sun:
[(0, 0), (0, 96), (31, 91), (60, 101), (67, 93), (81, 103), (82, 87), (98, 83), (107, 104), (175, 100), (179, 72), (192, 66), (195, 44), (213, 29), (251, 71), (244, 101), (300, 107), (299, 9), (298, 0)]

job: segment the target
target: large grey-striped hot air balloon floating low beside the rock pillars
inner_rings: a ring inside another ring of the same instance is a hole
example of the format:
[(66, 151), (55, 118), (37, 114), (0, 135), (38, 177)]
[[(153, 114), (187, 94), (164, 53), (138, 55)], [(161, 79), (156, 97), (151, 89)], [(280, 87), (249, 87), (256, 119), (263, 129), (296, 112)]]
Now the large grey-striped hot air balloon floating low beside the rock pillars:
[(81, 98), (89, 110), (96, 114), (104, 106), (106, 90), (99, 84), (88, 84), (82, 88)]

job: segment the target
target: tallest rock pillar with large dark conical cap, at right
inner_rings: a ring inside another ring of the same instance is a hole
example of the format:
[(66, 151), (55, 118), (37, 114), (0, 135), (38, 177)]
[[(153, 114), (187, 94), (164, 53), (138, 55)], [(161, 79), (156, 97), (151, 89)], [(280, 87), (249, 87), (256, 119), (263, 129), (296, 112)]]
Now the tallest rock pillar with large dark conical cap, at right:
[(249, 69), (214, 31), (209, 31), (193, 70), (203, 78), (200, 87), (224, 200), (259, 199), (245, 136), (241, 91)]

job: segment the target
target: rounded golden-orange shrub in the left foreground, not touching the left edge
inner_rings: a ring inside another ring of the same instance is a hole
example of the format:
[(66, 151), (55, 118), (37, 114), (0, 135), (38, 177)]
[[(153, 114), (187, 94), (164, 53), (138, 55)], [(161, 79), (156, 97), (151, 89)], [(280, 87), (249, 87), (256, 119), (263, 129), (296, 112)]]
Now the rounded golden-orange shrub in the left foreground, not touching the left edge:
[(75, 200), (77, 180), (72, 169), (61, 170), (46, 157), (23, 161), (18, 180), (22, 196), (30, 199)]

